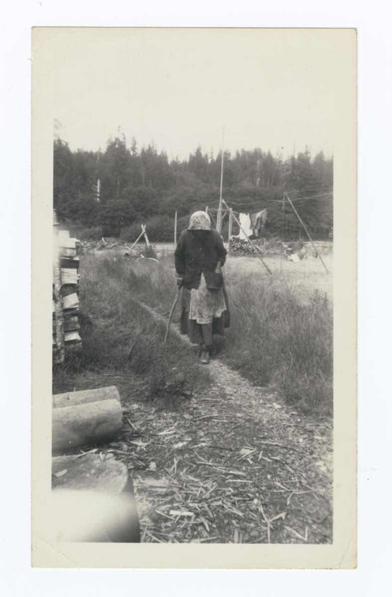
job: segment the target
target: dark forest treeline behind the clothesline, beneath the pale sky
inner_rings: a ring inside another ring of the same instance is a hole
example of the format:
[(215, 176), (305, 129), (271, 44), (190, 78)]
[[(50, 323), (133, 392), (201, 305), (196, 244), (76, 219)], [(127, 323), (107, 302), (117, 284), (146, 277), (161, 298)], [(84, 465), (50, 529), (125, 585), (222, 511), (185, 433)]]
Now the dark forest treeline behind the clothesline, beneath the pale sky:
[[(183, 161), (169, 161), (154, 144), (138, 149), (136, 140), (109, 140), (105, 151), (77, 150), (54, 141), (54, 207), (60, 221), (97, 227), (103, 236), (131, 240), (147, 223), (152, 241), (173, 238), (189, 214), (219, 204), (222, 154), (198, 147)], [(333, 161), (308, 150), (283, 160), (259, 148), (223, 154), (223, 198), (234, 211), (267, 207), (265, 235), (298, 238), (301, 224), (283, 192), (315, 238), (328, 238), (333, 226)], [(226, 222), (225, 222), (226, 224)], [(128, 238), (129, 237), (129, 238)]]

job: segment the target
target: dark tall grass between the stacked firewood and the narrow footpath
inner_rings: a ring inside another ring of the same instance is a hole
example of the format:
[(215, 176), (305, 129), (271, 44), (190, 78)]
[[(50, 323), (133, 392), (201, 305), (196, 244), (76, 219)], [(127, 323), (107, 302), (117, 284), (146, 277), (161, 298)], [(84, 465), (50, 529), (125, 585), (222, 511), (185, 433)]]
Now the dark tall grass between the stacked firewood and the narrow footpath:
[[(126, 264), (129, 266), (129, 263)], [(140, 278), (140, 283), (141, 279)], [(71, 355), (56, 367), (54, 392), (110, 377), (133, 396), (160, 398), (173, 404), (173, 395), (195, 390), (208, 380), (194, 350), (172, 334), (164, 344), (165, 322), (157, 321), (132, 297), (136, 274), (113, 257), (85, 256), (81, 264), (82, 341), (80, 355)], [(147, 279), (144, 284), (147, 284)]]

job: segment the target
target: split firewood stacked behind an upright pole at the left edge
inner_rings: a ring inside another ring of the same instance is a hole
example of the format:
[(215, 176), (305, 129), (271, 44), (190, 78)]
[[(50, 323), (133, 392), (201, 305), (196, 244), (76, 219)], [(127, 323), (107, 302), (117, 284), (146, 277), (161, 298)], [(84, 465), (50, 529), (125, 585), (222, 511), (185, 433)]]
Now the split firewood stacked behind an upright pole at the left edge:
[(65, 354), (79, 352), (79, 257), (78, 241), (68, 230), (56, 230), (53, 264), (53, 360), (63, 362)]

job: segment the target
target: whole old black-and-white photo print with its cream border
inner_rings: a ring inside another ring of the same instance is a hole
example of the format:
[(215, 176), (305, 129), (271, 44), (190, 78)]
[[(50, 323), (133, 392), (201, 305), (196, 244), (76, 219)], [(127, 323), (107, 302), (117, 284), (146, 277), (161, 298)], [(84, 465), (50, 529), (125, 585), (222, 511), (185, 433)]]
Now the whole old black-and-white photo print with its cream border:
[[(47, 371), (33, 479), (51, 487), (56, 550), (196, 545), (207, 567), (217, 544), (290, 546), (278, 567), (289, 553), (311, 567), (323, 546), (343, 556), (355, 30), (35, 27), (32, 40), (33, 352)], [(338, 567), (327, 553), (314, 567)]]

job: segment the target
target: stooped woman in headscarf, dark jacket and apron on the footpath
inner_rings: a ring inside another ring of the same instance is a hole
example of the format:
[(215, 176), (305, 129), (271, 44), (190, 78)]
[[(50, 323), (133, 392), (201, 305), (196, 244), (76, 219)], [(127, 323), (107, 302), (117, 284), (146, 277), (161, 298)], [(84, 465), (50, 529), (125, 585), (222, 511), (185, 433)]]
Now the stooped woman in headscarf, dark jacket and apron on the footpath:
[(221, 267), (227, 251), (219, 232), (211, 229), (205, 211), (191, 216), (174, 252), (177, 284), (183, 286), (180, 331), (200, 345), (200, 362), (208, 364), (213, 334), (229, 327), (228, 300)]

